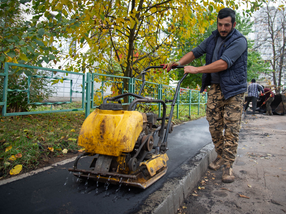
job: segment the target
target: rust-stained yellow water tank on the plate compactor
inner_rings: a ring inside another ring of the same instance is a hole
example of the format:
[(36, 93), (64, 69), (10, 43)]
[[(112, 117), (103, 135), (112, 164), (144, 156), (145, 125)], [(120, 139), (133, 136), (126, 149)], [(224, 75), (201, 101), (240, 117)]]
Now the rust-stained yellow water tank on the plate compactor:
[(83, 122), (77, 144), (86, 152), (118, 157), (133, 150), (142, 128), (138, 111), (95, 109)]

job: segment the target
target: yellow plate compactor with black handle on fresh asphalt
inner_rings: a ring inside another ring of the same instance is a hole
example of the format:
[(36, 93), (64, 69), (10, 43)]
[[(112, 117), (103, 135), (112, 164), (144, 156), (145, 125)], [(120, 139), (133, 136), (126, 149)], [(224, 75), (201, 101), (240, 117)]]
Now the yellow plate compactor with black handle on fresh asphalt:
[[(153, 68), (158, 69), (163, 66), (150, 66), (142, 71), (139, 95), (124, 93), (107, 97), (83, 122), (78, 145), (85, 147), (86, 152), (76, 158), (73, 168), (69, 168), (69, 171), (75, 172), (76, 177), (145, 189), (166, 174), (167, 137), (173, 130), (171, 121), (176, 97), (181, 82), (187, 74), (178, 82), (173, 100), (163, 101), (142, 97), (140, 94), (145, 85), (145, 73)], [(176, 68), (184, 68), (184, 66)], [(120, 98), (125, 96), (136, 98), (130, 103), (127, 111), (123, 111), (120, 102)], [(107, 101), (116, 103), (107, 103)], [(172, 103), (169, 117), (166, 117), (166, 102)], [(153, 113), (135, 111), (137, 103), (161, 103), (162, 117), (158, 118)], [(163, 128), (154, 124), (158, 120), (162, 121)], [(167, 126), (164, 125), (165, 120), (168, 120)], [(164, 129), (166, 129), (165, 134)], [(157, 133), (160, 137), (157, 145), (154, 145)], [(94, 156), (91, 169), (78, 169), (78, 160), (86, 155)]]

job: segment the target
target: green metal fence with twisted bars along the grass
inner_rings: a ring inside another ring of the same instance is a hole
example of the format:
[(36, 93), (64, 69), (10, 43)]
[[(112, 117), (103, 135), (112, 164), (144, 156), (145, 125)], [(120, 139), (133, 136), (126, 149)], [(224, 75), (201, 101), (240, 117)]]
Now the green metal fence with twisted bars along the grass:
[[(67, 112), (67, 111), (85, 111), (85, 116), (87, 117), (90, 113), (90, 110), (92, 108), (96, 108), (97, 106), (94, 103), (94, 96), (97, 96), (97, 92), (100, 93), (102, 96), (102, 99), (104, 97), (105, 90), (107, 88), (106, 85), (109, 87), (114, 84), (122, 84), (123, 86), (123, 79), (128, 79), (128, 85), (129, 90), (124, 91), (122, 87), (122, 93), (124, 92), (131, 92), (131, 93), (138, 93), (139, 88), (142, 85), (142, 80), (136, 79), (136, 78), (129, 78), (124, 76), (115, 76), (115, 75), (106, 75), (106, 74), (99, 74), (99, 73), (77, 73), (77, 72), (71, 72), (71, 71), (65, 71), (65, 70), (57, 70), (57, 69), (51, 69), (51, 68), (43, 68), (43, 67), (36, 67), (36, 66), (29, 66), (25, 64), (15, 64), (15, 63), (8, 63), (6, 62), (4, 64), (4, 73), (0, 73), (0, 77), (4, 77), (3, 81), (3, 100), (0, 102), (0, 106), (2, 106), (2, 116), (13, 116), (13, 115), (27, 115), (27, 114), (42, 114), (42, 113), (55, 113), (55, 112)], [(19, 89), (10, 89), (8, 88), (8, 81), (9, 81), (9, 73), (12, 69), (12, 66), (18, 67), (19, 69), (28, 69), (28, 70), (45, 70), (51, 72), (50, 76), (40, 76), (40, 75), (31, 75), (28, 77), (28, 88), (25, 90), (19, 90)], [(62, 73), (62, 74), (74, 74), (81, 76), (82, 78), (82, 90), (81, 91), (74, 91), (72, 88), (74, 86), (72, 79), (69, 78), (63, 78), (58, 76), (55, 76), (54, 73)], [(70, 97), (69, 101), (65, 102), (33, 102), (30, 103), (29, 96), (30, 96), (30, 83), (32, 78), (45, 78), (49, 80), (61, 80), (68, 82), (70, 84)], [(98, 79), (101, 80), (101, 87), (100, 89), (94, 89), (94, 83), (98, 82)], [(97, 81), (95, 81), (97, 80)], [(153, 82), (146, 81), (144, 91), (142, 92), (142, 96), (144, 97), (150, 97), (154, 99), (172, 99), (175, 94), (175, 86), (169, 86), (164, 84), (158, 84)], [(29, 111), (29, 112), (15, 112), (15, 113), (7, 113), (7, 94), (8, 92), (25, 92), (27, 93), (28, 98), (28, 104), (29, 105), (51, 105), (51, 110), (49, 111)], [(112, 89), (111, 89), (111, 92)], [(81, 93), (82, 94), (82, 106), (81, 108), (74, 108), (74, 109), (61, 109), (61, 110), (52, 110), (52, 105), (57, 104), (68, 104), (72, 103), (72, 94), (73, 93)], [(129, 96), (128, 97), (128, 103), (123, 103), (123, 105), (127, 105), (131, 103), (134, 100), (134, 97)], [(177, 118), (179, 117), (179, 106), (180, 105), (188, 105), (189, 106), (189, 116), (191, 114), (191, 105), (198, 105), (198, 114), (200, 113), (200, 104), (205, 104), (207, 100), (207, 94), (206, 92), (199, 93), (198, 90), (191, 90), (191, 89), (184, 89), (180, 88), (180, 93), (177, 97), (176, 102), (176, 108), (177, 108)], [(161, 117), (161, 103), (151, 103), (148, 105), (153, 105), (158, 107), (158, 115)], [(171, 104), (167, 104), (171, 105)]]

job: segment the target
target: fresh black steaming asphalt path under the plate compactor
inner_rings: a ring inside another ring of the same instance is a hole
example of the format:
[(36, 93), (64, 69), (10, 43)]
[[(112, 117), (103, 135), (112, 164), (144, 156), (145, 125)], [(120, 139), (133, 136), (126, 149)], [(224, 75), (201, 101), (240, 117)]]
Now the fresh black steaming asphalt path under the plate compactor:
[[(158, 140), (158, 137), (156, 137)], [(156, 139), (155, 139), (156, 141)], [(180, 177), (181, 165), (211, 143), (206, 118), (176, 126), (168, 135), (167, 173), (145, 190), (77, 180), (68, 171), (73, 162), (0, 186), (0, 213), (135, 213), (144, 200), (170, 178)], [(80, 159), (89, 169), (92, 157)], [(145, 204), (146, 205), (146, 204)]]

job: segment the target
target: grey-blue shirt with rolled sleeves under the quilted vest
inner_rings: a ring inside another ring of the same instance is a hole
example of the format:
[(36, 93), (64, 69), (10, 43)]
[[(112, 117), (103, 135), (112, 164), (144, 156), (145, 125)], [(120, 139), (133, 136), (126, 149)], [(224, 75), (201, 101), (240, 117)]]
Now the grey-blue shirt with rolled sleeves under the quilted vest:
[[(196, 48), (192, 49), (192, 52), (196, 59), (198, 59), (200, 56), (203, 56), (203, 54), (206, 53), (206, 38), (203, 40), (200, 45), (198, 45)], [(220, 48), (220, 45), (223, 43), (223, 39), (218, 37), (217, 38), (217, 44), (215, 46), (214, 54), (212, 56), (212, 62), (217, 61), (218, 51)], [(231, 67), (233, 63), (238, 59), (238, 57), (243, 54), (243, 52), (246, 50), (247, 44), (244, 38), (239, 38), (235, 40), (234, 42), (229, 45), (226, 50), (223, 52), (223, 55), (220, 57), (223, 61), (227, 63), (227, 68)], [(220, 84), (219, 74), (217, 73), (211, 73), (211, 83), (212, 84)]]

